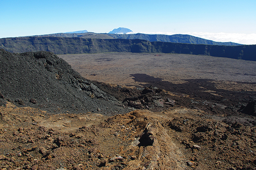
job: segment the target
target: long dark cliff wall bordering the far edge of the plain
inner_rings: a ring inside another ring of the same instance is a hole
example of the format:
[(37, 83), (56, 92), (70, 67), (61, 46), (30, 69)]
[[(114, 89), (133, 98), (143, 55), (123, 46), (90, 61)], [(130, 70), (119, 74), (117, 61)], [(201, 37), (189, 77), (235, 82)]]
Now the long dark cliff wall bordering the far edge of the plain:
[(125, 51), (132, 53), (210, 55), (256, 61), (256, 45), (226, 46), (126, 39), (85, 39), (79, 37), (16, 37), (0, 39), (0, 48), (15, 53), (51, 51), (55, 54), (82, 54)]

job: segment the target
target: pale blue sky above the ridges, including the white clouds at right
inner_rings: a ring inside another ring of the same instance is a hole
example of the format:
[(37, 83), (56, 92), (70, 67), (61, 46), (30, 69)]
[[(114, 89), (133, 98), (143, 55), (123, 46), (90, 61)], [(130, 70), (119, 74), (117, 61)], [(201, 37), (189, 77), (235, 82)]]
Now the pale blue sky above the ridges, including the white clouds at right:
[(0, 7), (0, 38), (125, 27), (256, 44), (256, 0), (1, 0)]

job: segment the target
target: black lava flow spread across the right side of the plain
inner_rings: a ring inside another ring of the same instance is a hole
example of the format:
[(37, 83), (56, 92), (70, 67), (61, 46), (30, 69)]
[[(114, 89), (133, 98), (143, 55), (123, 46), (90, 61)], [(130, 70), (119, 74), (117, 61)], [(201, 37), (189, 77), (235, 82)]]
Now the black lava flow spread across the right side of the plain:
[(186, 83), (173, 84), (163, 81), (161, 78), (149, 76), (147, 74), (130, 74), (136, 82), (144, 87), (157, 87), (170, 91), (176, 95), (189, 95), (189, 97), (201, 100), (216, 102), (230, 107), (241, 107), (241, 103), (247, 104), (248, 101), (256, 99), (255, 91), (228, 91), (217, 89), (211, 81), (213, 79), (185, 79)]

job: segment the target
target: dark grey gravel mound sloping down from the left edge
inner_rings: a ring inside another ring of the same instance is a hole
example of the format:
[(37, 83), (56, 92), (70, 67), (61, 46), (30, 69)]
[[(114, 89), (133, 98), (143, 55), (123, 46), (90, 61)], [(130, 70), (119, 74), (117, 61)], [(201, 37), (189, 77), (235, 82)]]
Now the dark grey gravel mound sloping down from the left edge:
[(45, 51), (15, 54), (0, 49), (0, 93), (2, 102), (51, 113), (128, 112), (63, 59)]

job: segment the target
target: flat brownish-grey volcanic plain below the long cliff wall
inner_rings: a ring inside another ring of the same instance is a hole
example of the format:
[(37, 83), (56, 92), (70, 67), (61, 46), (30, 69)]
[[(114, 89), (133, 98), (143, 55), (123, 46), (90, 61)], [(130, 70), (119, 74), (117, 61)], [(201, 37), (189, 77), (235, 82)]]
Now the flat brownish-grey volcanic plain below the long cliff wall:
[(218, 88), (256, 90), (255, 61), (152, 53), (66, 54), (58, 57), (67, 61), (81, 76), (108, 84), (144, 86), (153, 81), (182, 86), (191, 79), (198, 79), (214, 82)]

